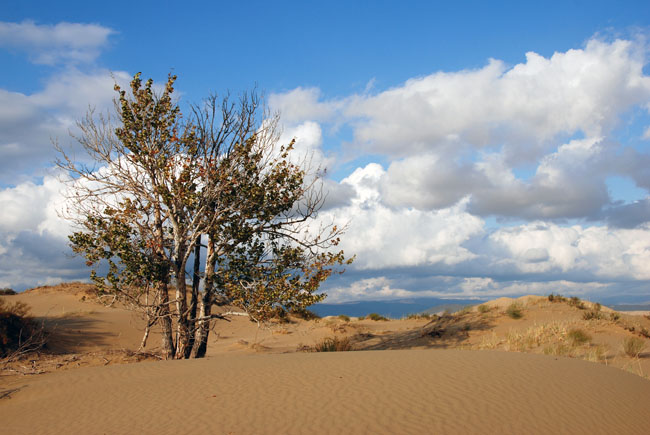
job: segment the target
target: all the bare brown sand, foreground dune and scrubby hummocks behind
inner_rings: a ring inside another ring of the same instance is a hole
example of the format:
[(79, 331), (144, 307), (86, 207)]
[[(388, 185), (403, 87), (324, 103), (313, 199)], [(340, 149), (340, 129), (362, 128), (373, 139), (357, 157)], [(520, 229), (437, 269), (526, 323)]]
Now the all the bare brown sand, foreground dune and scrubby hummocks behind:
[[(206, 359), (114, 365), (137, 359), (115, 352), (137, 349), (142, 322), (85, 298), (85, 290), (8, 297), (54, 328), (55, 355), (0, 371), (0, 432), (638, 434), (650, 427), (650, 346), (639, 358), (620, 349), (650, 326), (642, 316), (585, 321), (584, 310), (526, 297), (518, 320), (503, 314), (509, 299), (487, 313), (431, 323), (325, 318), (258, 329), (235, 318), (217, 323)], [(592, 342), (571, 347), (573, 358), (540, 355), (557, 344), (548, 340), (566, 339), (545, 335), (531, 344), (548, 325), (583, 328)], [(296, 352), (325, 337), (379, 351)], [(155, 351), (158, 337), (150, 340)], [(600, 364), (583, 360), (600, 348)]]

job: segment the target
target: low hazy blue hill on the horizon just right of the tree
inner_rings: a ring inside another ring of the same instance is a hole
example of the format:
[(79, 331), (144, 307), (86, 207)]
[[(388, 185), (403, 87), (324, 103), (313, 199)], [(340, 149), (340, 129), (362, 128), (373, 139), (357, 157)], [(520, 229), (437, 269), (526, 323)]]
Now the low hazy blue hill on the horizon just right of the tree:
[(455, 312), (466, 305), (476, 305), (480, 303), (481, 301), (471, 299), (417, 298), (392, 301), (356, 301), (341, 304), (316, 304), (311, 306), (310, 310), (322, 317), (337, 316), (339, 314), (359, 317), (370, 313), (378, 313), (382, 316), (399, 319), (408, 314), (435, 314), (447, 309), (450, 312)]

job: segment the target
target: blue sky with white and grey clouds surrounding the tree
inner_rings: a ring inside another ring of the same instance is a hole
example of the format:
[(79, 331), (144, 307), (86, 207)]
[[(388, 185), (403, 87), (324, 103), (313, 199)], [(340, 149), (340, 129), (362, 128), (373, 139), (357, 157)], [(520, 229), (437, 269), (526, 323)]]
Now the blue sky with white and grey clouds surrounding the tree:
[[(650, 6), (12, 2), (0, 12), (0, 286), (81, 279), (50, 138), (113, 80), (255, 84), (330, 170), (357, 262), (330, 301), (650, 292)], [(111, 74), (114, 79), (111, 78)]]

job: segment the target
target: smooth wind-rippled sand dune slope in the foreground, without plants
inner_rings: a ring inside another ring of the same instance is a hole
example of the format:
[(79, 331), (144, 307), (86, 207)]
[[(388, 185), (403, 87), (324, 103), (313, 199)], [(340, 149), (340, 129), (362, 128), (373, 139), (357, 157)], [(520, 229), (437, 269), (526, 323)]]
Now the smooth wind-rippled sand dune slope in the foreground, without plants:
[(603, 433), (650, 427), (650, 382), (490, 351), (231, 355), (28, 378), (5, 433)]

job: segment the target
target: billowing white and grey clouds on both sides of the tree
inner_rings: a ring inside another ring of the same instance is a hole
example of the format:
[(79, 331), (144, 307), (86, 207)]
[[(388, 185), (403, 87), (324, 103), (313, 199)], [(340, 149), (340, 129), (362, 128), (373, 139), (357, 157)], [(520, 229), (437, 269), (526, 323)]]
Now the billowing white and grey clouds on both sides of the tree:
[[(0, 46), (40, 63), (92, 61), (111, 34), (98, 30), (85, 57), (77, 47), (48, 61), (38, 35), (61, 29), (28, 37), (9, 26), (6, 37), (6, 27)], [(490, 59), (383, 91), (270, 95), (282, 112), (282, 140), (296, 138), (301, 158), (339, 174), (325, 180), (320, 219), (348, 224), (341, 247), (356, 261), (327, 283), (329, 301), (550, 292), (647, 300), (646, 53), (642, 40), (591, 39), (550, 57)], [(0, 173), (11, 183), (0, 190), (0, 285), (86, 276), (63, 255), (69, 228), (56, 215), (60, 186), (35, 178), (43, 173), (34, 168), (47, 168), (49, 137), (66, 136), (89, 102), (110, 107), (112, 80), (103, 70), (68, 68), (31, 95), (0, 89), (0, 107), (13, 108), (0, 109)], [(642, 195), (621, 196), (613, 178)]]

